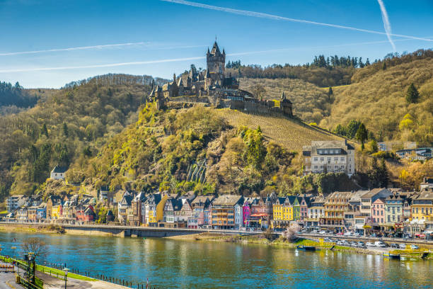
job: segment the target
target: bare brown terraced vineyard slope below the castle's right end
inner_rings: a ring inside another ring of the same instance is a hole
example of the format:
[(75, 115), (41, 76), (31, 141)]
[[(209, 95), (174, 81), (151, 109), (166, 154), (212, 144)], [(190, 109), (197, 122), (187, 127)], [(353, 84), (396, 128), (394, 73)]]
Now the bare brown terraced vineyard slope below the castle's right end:
[(215, 111), (235, 128), (238, 128), (240, 125), (246, 125), (248, 128), (257, 128), (260, 125), (266, 140), (277, 142), (289, 150), (299, 151), (304, 145), (310, 145), (312, 140), (340, 139), (340, 137), (335, 135), (321, 132), (307, 125), (301, 125), (301, 123), (297, 123), (295, 120), (251, 115), (229, 108), (217, 109)]

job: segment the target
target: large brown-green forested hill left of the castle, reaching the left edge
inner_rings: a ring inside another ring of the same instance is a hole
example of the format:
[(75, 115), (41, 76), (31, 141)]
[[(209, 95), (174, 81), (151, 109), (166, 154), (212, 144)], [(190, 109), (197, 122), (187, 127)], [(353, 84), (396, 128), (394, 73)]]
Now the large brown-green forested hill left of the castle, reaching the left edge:
[(0, 117), (0, 195), (32, 193), (53, 166), (83, 163), (137, 121), (150, 86), (110, 75), (54, 91), (35, 107)]

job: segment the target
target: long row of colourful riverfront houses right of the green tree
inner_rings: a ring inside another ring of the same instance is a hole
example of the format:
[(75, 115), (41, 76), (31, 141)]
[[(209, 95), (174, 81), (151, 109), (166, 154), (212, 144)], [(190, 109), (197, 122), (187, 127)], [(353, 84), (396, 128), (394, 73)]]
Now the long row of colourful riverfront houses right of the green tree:
[(244, 198), (236, 195), (184, 196), (125, 191), (118, 220), (150, 227), (284, 229), (295, 223), (333, 232), (405, 232), (417, 234), (433, 224), (433, 191), (403, 192), (374, 188), (329, 196)]

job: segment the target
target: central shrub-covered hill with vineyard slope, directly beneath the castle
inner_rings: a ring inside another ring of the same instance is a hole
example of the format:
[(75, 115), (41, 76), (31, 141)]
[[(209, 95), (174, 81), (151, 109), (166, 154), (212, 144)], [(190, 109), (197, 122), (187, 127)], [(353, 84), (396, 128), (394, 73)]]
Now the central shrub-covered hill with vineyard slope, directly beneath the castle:
[[(72, 164), (67, 179), (93, 190), (108, 185), (113, 191), (246, 196), (314, 191), (325, 183), (325, 176), (301, 181), (298, 152), (292, 150), (311, 140), (333, 138), (295, 120), (203, 106), (158, 111), (149, 103), (137, 123), (115, 135), (97, 157)], [(345, 175), (337, 178), (348, 183)]]

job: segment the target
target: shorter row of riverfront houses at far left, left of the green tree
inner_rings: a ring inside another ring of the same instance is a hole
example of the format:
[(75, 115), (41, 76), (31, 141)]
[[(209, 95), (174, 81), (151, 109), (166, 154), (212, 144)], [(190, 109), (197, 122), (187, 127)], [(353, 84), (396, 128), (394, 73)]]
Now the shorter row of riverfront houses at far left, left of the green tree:
[(87, 195), (48, 196), (46, 202), (42, 195), (11, 196), (6, 199), (6, 218), (20, 222), (94, 222), (95, 205), (96, 198)]

